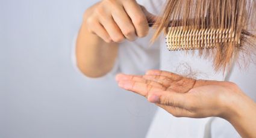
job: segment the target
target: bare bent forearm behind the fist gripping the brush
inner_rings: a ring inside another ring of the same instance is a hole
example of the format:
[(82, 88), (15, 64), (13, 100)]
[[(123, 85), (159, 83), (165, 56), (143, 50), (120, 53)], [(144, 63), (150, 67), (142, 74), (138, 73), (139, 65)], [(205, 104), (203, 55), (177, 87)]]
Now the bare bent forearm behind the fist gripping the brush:
[(84, 23), (76, 41), (76, 60), (80, 70), (89, 77), (100, 77), (113, 68), (117, 56), (117, 43), (106, 43), (88, 31)]

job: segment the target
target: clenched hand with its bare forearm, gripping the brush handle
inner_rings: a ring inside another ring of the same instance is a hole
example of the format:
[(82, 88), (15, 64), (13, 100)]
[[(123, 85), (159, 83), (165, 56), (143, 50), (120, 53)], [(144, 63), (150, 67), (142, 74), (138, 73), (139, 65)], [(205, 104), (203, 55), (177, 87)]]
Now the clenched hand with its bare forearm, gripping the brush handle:
[(102, 0), (88, 8), (76, 40), (78, 68), (88, 77), (107, 74), (116, 61), (119, 43), (145, 37), (148, 22), (157, 19), (136, 0)]

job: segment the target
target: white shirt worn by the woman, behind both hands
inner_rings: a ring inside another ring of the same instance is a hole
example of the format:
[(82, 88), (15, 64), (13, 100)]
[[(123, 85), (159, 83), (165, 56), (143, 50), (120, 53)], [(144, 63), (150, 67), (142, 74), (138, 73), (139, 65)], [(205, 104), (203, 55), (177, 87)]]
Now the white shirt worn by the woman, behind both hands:
[[(153, 14), (159, 14), (164, 6), (164, 0), (137, 1)], [(229, 80), (237, 83), (243, 91), (256, 100), (256, 67), (249, 65), (248, 69), (240, 71), (234, 65), (229, 74), (215, 73), (212, 62), (199, 56), (186, 55), (183, 51), (169, 52), (165, 40), (160, 37), (152, 46), (149, 41), (154, 30), (149, 35), (136, 41), (125, 41), (120, 44), (116, 64), (106, 76), (114, 77), (116, 73), (144, 74), (146, 70), (159, 68), (160, 70), (184, 73), (187, 68), (197, 72), (198, 79)], [(73, 56), (75, 57), (75, 56)], [(75, 61), (75, 59), (74, 59)], [(185, 70), (184, 70), (185, 68)], [(166, 137), (240, 137), (234, 127), (221, 118), (175, 118), (163, 109), (158, 109), (149, 128), (148, 138)]]

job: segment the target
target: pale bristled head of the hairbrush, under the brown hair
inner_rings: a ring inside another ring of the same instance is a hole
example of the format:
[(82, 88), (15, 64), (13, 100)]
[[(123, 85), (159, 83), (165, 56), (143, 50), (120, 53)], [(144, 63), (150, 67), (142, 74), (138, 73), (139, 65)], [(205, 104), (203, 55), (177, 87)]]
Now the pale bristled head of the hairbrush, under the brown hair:
[(195, 29), (170, 27), (166, 35), (167, 49), (194, 50), (212, 49), (223, 44), (240, 45), (240, 39), (232, 29)]

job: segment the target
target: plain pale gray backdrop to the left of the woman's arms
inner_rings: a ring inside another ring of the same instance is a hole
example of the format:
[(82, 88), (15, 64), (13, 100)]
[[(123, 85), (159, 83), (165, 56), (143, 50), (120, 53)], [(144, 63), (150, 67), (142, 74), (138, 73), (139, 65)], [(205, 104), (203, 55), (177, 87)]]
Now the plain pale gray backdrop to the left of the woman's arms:
[(144, 137), (155, 106), (75, 70), (93, 0), (0, 0), (0, 137)]

